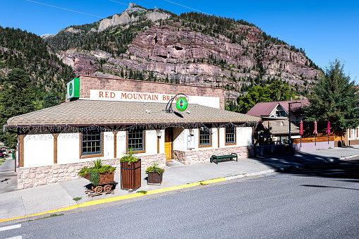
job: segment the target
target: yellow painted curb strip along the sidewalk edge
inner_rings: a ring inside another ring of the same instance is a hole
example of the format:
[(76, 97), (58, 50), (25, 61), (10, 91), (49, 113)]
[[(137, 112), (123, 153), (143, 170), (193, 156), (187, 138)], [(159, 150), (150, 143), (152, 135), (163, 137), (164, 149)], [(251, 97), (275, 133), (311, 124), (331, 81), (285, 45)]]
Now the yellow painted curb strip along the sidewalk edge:
[(191, 188), (191, 187), (195, 187), (195, 186), (198, 186), (198, 185), (205, 185), (205, 184), (210, 184), (210, 183), (218, 183), (218, 182), (221, 182), (221, 181), (224, 181), (224, 180), (226, 180), (226, 179), (225, 178), (215, 178), (215, 179), (211, 179), (211, 180), (200, 181), (200, 182), (197, 182), (197, 183), (188, 183), (188, 184), (183, 184), (183, 185), (179, 185), (179, 186), (173, 186), (173, 187), (169, 187), (169, 188), (160, 188), (160, 189), (148, 191), (146, 193), (137, 192), (137, 193), (128, 194), (128, 195), (121, 195), (121, 196), (116, 196), (116, 197), (103, 198), (103, 199), (100, 199), (100, 200), (94, 200), (94, 201), (90, 201), (90, 202), (83, 202), (83, 203), (80, 203), (80, 204), (75, 204), (75, 205), (69, 206), (69, 207), (63, 207), (61, 209), (53, 209), (53, 210), (49, 210), (47, 212), (39, 212), (37, 214), (30, 214), (30, 215), (26, 215), (26, 216), (16, 216), (16, 217), (12, 217), (10, 219), (0, 219), (0, 222), (13, 221), (13, 220), (17, 220), (17, 219), (25, 219), (25, 218), (30, 217), (30, 216), (40, 216), (40, 215), (44, 215), (44, 214), (53, 214), (55, 212), (63, 212), (63, 211), (68, 211), (68, 210), (72, 210), (72, 209), (77, 209), (77, 208), (80, 208), (80, 207), (88, 207), (88, 206), (93, 206), (93, 205), (97, 205), (97, 204), (103, 204), (103, 203), (106, 203), (106, 202), (116, 202), (116, 201), (126, 200), (126, 199), (130, 199), (130, 198), (135, 198), (135, 197), (143, 197), (145, 195), (154, 195), (154, 194), (161, 193), (161, 192), (169, 192), (169, 191), (183, 189), (183, 188)]

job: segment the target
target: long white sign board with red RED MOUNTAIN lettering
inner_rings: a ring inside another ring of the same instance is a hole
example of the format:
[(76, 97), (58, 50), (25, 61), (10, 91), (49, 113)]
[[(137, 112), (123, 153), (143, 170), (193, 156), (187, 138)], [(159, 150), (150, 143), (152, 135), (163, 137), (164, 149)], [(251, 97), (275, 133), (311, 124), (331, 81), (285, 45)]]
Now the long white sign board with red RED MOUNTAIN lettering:
[[(121, 102), (157, 102), (167, 103), (175, 94), (157, 94), (144, 92), (122, 92), (111, 90), (90, 90), (90, 99)], [(179, 95), (178, 97), (181, 97)], [(177, 97), (174, 99), (176, 102)], [(219, 109), (219, 97), (188, 96), (188, 104), (200, 104)]]

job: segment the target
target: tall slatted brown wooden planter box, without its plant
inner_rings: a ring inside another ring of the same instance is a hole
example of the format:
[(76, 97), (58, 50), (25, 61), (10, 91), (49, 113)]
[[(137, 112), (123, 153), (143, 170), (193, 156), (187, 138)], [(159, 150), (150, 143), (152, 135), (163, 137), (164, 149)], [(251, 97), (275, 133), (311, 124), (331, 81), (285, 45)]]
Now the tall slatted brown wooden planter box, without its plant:
[(136, 190), (141, 186), (141, 159), (135, 163), (121, 162), (121, 189)]

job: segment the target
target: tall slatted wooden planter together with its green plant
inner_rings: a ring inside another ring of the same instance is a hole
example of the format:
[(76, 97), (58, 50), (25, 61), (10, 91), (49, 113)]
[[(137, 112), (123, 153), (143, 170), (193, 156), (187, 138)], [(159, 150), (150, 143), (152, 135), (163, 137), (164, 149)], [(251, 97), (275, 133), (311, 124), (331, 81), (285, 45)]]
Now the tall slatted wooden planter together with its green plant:
[(121, 189), (136, 190), (141, 186), (141, 159), (133, 154), (133, 149), (121, 157)]

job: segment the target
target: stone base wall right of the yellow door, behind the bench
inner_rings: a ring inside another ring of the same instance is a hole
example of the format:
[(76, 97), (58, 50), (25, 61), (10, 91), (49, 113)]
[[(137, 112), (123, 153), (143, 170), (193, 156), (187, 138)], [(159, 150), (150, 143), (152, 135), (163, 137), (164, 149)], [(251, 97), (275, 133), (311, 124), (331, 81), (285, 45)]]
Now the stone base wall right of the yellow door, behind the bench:
[(222, 149), (204, 149), (197, 151), (179, 151), (174, 150), (172, 159), (179, 161), (182, 164), (202, 164), (211, 161), (212, 155), (224, 155), (224, 154), (238, 154), (238, 159), (252, 157), (254, 154), (253, 146), (244, 147), (228, 147)]

